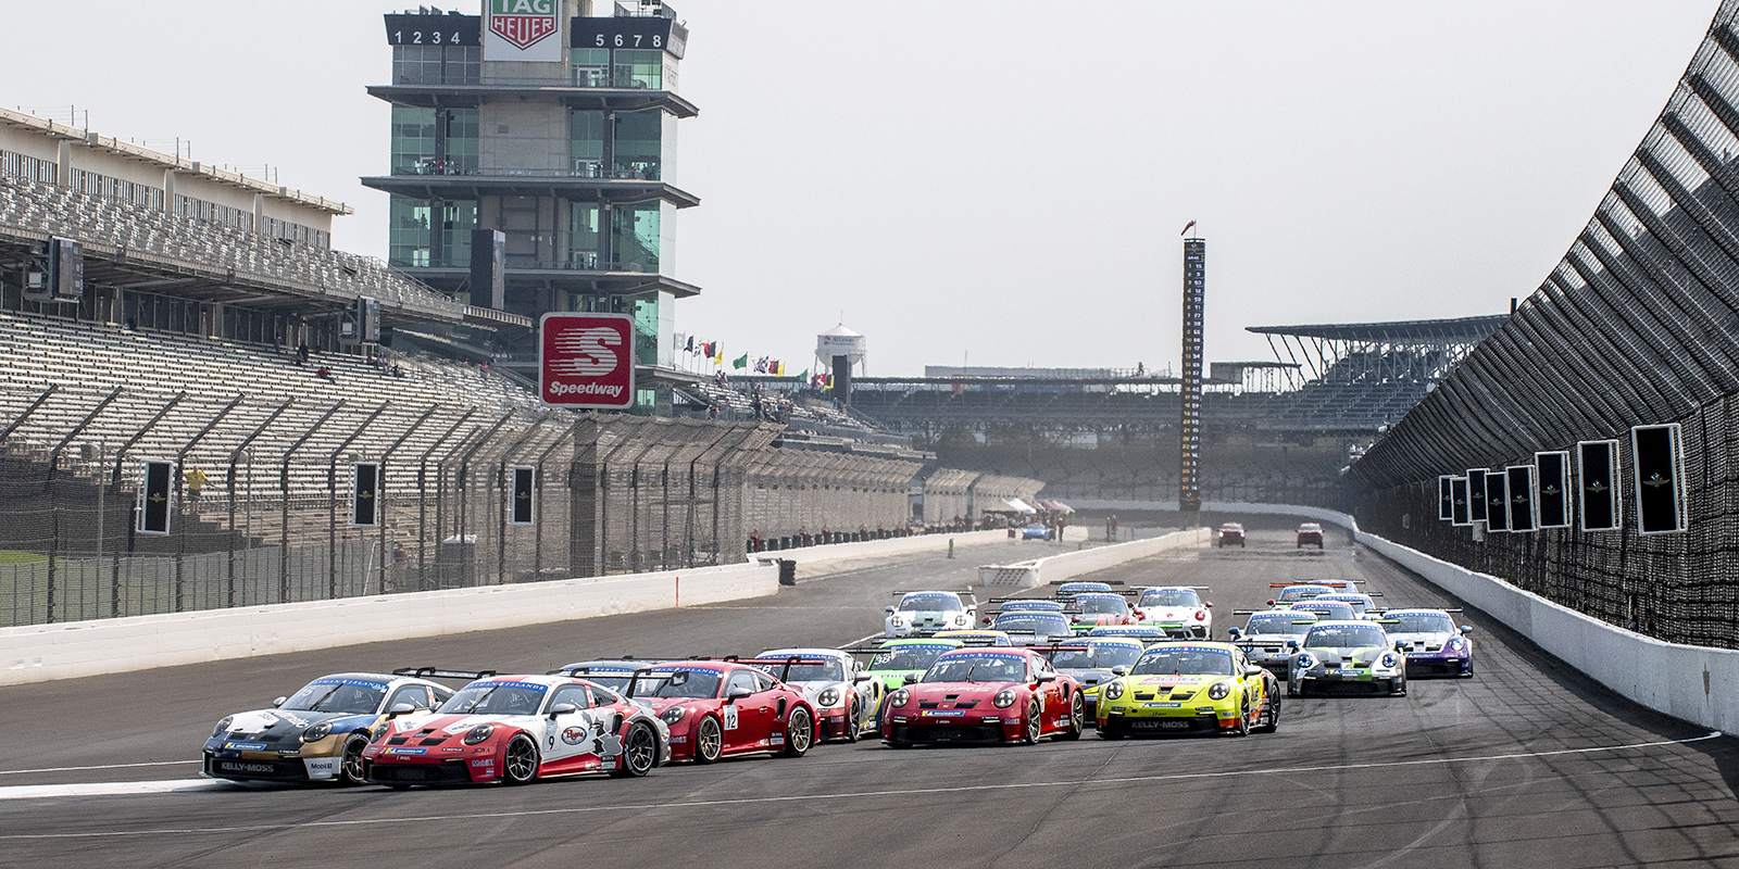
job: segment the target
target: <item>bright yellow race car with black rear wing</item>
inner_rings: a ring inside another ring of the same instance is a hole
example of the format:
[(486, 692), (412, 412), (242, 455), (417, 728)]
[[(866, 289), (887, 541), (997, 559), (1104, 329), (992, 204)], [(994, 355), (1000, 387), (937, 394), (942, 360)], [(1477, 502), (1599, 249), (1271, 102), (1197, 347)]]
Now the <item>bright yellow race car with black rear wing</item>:
[(1099, 695), (1099, 737), (1280, 728), (1280, 681), (1231, 643), (1155, 643)]

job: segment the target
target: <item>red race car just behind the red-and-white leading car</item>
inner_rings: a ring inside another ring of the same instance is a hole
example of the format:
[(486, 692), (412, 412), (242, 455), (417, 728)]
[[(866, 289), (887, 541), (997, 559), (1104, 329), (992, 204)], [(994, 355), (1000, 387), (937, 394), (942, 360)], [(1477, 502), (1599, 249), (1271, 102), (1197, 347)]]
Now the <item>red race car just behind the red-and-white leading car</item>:
[(678, 761), (753, 753), (802, 758), (816, 739), (816, 707), (802, 690), (736, 660), (654, 664), (635, 678), (633, 697), (670, 725)]

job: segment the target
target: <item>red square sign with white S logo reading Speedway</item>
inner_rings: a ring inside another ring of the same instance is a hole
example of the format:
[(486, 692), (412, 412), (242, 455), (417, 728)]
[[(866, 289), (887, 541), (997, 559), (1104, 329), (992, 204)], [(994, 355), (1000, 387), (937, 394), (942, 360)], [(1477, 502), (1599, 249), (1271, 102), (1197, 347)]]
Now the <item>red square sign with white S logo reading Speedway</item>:
[(635, 320), (548, 313), (539, 322), (537, 396), (546, 405), (624, 410), (635, 403)]

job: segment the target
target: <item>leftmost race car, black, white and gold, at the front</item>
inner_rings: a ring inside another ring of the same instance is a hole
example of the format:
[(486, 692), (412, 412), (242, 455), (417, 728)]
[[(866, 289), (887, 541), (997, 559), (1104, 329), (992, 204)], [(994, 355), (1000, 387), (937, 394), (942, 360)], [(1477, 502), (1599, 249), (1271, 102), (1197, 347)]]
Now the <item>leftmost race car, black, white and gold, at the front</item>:
[(237, 782), (362, 784), (362, 753), (386, 718), (430, 711), (452, 688), (416, 676), (336, 673), (320, 676), (271, 709), (217, 721), (205, 740), (202, 773)]

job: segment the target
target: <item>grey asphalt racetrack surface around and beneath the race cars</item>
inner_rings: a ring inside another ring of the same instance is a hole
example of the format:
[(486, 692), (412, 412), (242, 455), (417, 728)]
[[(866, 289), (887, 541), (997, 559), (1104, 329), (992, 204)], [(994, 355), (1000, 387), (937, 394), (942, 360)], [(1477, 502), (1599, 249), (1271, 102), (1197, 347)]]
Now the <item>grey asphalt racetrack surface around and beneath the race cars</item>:
[[(1096, 579), (1210, 586), (1216, 634), (1269, 582), (1363, 579), (1454, 605), (1330, 535), (1247, 521), (1247, 549), (1186, 549)], [(1263, 527), (1268, 530), (1261, 530)], [(1280, 732), (678, 765), (640, 780), (414, 789), (195, 784), (212, 723), (306, 680), (410, 664), (843, 645), (896, 587), (960, 587), (1040, 544), (800, 572), (755, 601), (230, 660), (0, 690), (3, 866), (1739, 866), (1739, 744), (1593, 685), (1478, 612), (1473, 680), (1396, 699), (1287, 700)], [(127, 766), (148, 763), (148, 766)], [(23, 772), (52, 770), (52, 772)], [(68, 796), (85, 789), (110, 796)], [(47, 787), (43, 787), (47, 786)], [(122, 791), (122, 793), (113, 793)], [(59, 796), (26, 796), (26, 794)]]

